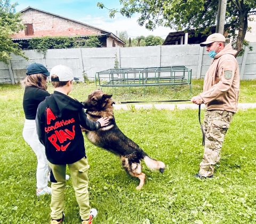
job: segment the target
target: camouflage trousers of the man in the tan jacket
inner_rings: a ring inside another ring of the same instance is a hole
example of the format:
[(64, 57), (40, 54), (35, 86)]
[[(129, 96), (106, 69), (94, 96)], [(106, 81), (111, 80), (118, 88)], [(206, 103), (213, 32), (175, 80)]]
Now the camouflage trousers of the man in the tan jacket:
[(200, 171), (204, 177), (213, 175), (214, 165), (220, 161), (220, 150), (234, 113), (206, 110), (204, 117), (205, 146)]

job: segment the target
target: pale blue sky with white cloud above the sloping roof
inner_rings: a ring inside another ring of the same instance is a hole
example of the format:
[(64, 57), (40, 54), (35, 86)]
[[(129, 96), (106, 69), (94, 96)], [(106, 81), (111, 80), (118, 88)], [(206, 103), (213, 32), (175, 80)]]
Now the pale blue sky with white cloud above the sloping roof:
[(138, 15), (132, 18), (123, 17), (117, 13), (114, 19), (109, 18), (107, 9), (99, 9), (97, 2), (105, 4), (108, 9), (121, 8), (119, 0), (16, 0), (19, 5), (16, 11), (19, 12), (28, 6), (39, 10), (54, 13), (69, 19), (84, 22), (88, 25), (101, 28), (116, 34), (116, 31), (127, 31), (129, 37), (155, 35), (163, 39), (170, 33), (170, 28), (157, 27), (154, 31), (147, 30), (145, 27), (138, 25)]

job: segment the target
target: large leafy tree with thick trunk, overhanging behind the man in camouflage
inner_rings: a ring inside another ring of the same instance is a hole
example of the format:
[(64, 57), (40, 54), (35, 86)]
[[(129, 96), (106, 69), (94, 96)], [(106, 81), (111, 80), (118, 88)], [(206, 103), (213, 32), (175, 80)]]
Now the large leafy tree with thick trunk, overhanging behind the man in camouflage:
[[(215, 26), (218, 13), (218, 0), (119, 0), (122, 4), (119, 11), (127, 18), (134, 13), (140, 14), (138, 23), (153, 30), (156, 26), (170, 27), (176, 30), (195, 29), (196, 33), (209, 35)], [(105, 7), (98, 3), (98, 7)], [(256, 8), (256, 1), (230, 0), (227, 2), (225, 31), (233, 37), (235, 49), (242, 50), (244, 37), (248, 28), (248, 13)], [(109, 9), (108, 9), (109, 10)], [(116, 9), (109, 10), (113, 18)], [(237, 33), (238, 31), (238, 33)]]

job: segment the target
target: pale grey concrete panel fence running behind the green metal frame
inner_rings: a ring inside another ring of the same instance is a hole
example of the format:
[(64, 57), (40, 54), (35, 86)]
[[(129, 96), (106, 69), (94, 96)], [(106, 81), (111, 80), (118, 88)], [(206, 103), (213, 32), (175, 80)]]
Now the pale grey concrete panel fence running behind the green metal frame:
[[(253, 51), (245, 47), (245, 53), (237, 57), (241, 79), (256, 79), (256, 43), (250, 43)], [(93, 79), (98, 71), (110, 68), (186, 66), (192, 69), (193, 78), (204, 78), (211, 64), (205, 47), (194, 45), (158, 45), (145, 47), (106, 47), (53, 49), (45, 53), (26, 50), (29, 60), (11, 55), (5, 64), (0, 62), (0, 83), (18, 83), (26, 76), (26, 68), (33, 62), (42, 63), (49, 70), (55, 65), (67, 65), (74, 76), (83, 74)]]

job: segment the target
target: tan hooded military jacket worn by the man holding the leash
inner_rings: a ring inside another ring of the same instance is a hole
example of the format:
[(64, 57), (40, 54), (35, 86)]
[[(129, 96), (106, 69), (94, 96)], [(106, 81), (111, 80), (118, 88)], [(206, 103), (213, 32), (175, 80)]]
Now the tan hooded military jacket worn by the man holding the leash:
[(231, 44), (215, 55), (204, 78), (203, 99), (207, 110), (237, 111), (239, 68)]

